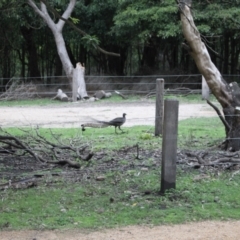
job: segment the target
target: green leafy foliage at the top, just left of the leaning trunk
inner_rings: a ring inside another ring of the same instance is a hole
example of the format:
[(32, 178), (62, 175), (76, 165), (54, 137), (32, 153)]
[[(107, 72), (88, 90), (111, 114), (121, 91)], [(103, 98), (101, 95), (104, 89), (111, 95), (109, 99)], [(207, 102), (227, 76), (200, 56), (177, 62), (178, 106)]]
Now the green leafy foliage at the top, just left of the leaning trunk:
[(122, 37), (131, 31), (133, 39), (140, 41), (146, 41), (151, 35), (163, 38), (177, 36), (180, 28), (173, 21), (177, 20), (177, 11), (174, 1), (123, 1), (114, 16), (112, 32)]

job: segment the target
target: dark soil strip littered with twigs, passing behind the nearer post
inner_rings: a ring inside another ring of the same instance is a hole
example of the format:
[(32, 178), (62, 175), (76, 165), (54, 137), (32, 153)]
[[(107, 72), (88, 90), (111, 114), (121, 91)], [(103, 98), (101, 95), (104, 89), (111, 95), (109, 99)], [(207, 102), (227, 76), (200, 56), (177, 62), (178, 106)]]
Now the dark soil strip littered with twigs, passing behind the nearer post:
[[(14, 184), (18, 188), (26, 188), (26, 182), (34, 183), (41, 181), (45, 176), (64, 177), (68, 181), (82, 182), (85, 180), (104, 175), (107, 172), (123, 173), (127, 170), (160, 170), (161, 150), (139, 149), (137, 146), (123, 148), (119, 151), (101, 151), (94, 153), (88, 162), (80, 162), (81, 168), (74, 169), (67, 165), (42, 163), (29, 156), (13, 156), (1, 154), (0, 156), (0, 189)], [(237, 170), (238, 163), (234, 160), (236, 154), (221, 151), (178, 151), (177, 167), (185, 171), (199, 169), (200, 173), (205, 171)], [(22, 186), (19, 184), (23, 183)], [(30, 185), (32, 186), (32, 185)]]

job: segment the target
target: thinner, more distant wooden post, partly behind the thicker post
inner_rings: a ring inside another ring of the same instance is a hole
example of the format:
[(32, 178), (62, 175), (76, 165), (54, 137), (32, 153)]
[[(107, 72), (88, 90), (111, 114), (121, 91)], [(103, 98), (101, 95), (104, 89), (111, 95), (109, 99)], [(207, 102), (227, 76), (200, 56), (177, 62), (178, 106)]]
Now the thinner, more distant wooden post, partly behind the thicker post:
[(155, 136), (163, 132), (163, 96), (164, 96), (164, 79), (156, 80), (156, 114), (155, 114)]

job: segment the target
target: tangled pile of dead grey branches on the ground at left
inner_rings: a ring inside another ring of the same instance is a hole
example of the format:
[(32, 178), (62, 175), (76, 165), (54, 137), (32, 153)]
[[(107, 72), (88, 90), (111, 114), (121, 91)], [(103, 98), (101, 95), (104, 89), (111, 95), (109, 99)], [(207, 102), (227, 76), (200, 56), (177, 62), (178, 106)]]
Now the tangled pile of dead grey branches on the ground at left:
[(68, 165), (72, 168), (80, 168), (76, 160), (89, 161), (93, 156), (93, 153), (88, 150), (89, 146), (80, 139), (68, 139), (68, 143), (63, 143), (60, 137), (56, 138), (53, 134), (52, 140), (46, 139), (37, 129), (22, 131), (25, 137), (20, 139), (1, 129), (2, 153), (15, 156), (30, 155), (44, 164)]

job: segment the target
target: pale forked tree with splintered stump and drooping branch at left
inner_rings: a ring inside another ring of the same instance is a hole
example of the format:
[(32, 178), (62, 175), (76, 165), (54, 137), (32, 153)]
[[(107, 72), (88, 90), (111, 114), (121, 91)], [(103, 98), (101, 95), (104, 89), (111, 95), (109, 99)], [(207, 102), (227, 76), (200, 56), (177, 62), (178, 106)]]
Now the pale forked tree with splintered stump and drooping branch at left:
[[(75, 25), (74, 21), (77, 22), (78, 19), (72, 18), (71, 19), (72, 21), (69, 21), (69, 18), (76, 6), (76, 3), (77, 3), (76, 0), (69, 0), (68, 4), (66, 6), (66, 9), (63, 11), (62, 14), (59, 13), (52, 6), (52, 2), (49, 3), (45, 0), (40, 0), (40, 3), (36, 3), (34, 0), (27, 0), (27, 2), (33, 8), (35, 13), (37, 15), (39, 15), (46, 22), (47, 26), (51, 29), (54, 39), (55, 39), (58, 55), (61, 59), (62, 65), (63, 65), (63, 69), (69, 79), (72, 79), (72, 77), (73, 77), (74, 67), (73, 67), (71, 59), (68, 55), (65, 40), (64, 40), (63, 34), (62, 34), (63, 27), (66, 23), (71, 28), (76, 30), (79, 34), (81, 34), (85, 38), (87, 43), (90, 44), (93, 48), (97, 49), (98, 51), (100, 51), (104, 54), (108, 54), (111, 56), (119, 56), (119, 54), (115, 54), (113, 52), (107, 52), (104, 49), (100, 48), (97, 38), (94, 38), (94, 37), (88, 35), (86, 32), (84, 32), (83, 30), (81, 30), (80, 28), (78, 28)], [(63, 1), (56, 0), (56, 2), (62, 4)], [(48, 8), (54, 14), (54, 16), (56, 16), (56, 18), (58, 19), (57, 21), (56, 21), (56, 19), (51, 17), (51, 14), (49, 14), (49, 12), (48, 12)], [(80, 98), (84, 98), (84, 97), (87, 97), (85, 81), (84, 81), (85, 68), (83, 66), (79, 67), (80, 66), (79, 63), (77, 63), (77, 66), (78, 67), (76, 67), (76, 70), (78, 73), (76, 73), (76, 71), (75, 71), (76, 74), (74, 74), (74, 76), (77, 77), (77, 82), (78, 82), (78, 86), (79, 86), (78, 87), (78, 95)]]

